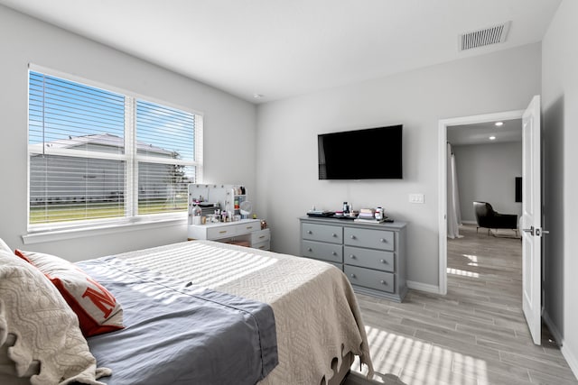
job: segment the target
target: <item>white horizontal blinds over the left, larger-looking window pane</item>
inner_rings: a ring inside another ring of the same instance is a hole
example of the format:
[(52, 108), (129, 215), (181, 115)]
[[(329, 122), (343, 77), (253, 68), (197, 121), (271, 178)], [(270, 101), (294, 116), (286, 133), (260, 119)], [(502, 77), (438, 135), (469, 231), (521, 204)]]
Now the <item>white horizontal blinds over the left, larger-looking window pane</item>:
[(31, 71), (30, 224), (124, 216), (124, 133), (124, 96)]

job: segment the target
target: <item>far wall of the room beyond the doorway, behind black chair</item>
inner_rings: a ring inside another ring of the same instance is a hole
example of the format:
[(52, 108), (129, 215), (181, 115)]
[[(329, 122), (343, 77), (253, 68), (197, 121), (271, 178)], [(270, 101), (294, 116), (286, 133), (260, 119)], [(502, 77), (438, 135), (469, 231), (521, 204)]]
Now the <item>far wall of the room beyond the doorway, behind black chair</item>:
[(522, 176), (522, 142), (452, 146), (460, 191), (461, 220), (476, 222), (474, 201), (502, 214), (521, 215), (516, 177)]

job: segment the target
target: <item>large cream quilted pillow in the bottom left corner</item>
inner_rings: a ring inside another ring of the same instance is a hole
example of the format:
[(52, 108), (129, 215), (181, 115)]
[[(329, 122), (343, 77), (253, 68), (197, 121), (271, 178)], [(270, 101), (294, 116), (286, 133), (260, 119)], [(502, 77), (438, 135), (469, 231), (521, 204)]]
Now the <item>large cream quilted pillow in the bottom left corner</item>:
[[(104, 385), (97, 379), (110, 375), (97, 369), (97, 360), (79, 328), (79, 319), (59, 291), (40, 270), (11, 252), (0, 251), (0, 347), (8, 344), (8, 358), (17, 377), (34, 361), (40, 372), (33, 385), (79, 383)], [(14, 374), (14, 373), (13, 373)]]

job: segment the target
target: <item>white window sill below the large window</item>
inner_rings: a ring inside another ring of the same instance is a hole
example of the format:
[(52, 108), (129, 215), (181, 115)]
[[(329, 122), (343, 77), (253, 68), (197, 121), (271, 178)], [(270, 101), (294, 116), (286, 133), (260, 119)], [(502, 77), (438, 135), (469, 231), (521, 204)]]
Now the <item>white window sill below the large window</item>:
[(127, 222), (123, 224), (106, 224), (94, 225), (89, 227), (72, 227), (61, 230), (49, 230), (30, 232), (22, 235), (24, 244), (47, 243), (55, 241), (64, 241), (68, 239), (84, 238), (89, 236), (117, 234), (120, 232), (131, 232), (144, 229), (154, 229), (161, 227), (171, 227), (176, 225), (185, 225), (187, 215), (171, 216), (163, 219), (144, 219), (138, 222)]

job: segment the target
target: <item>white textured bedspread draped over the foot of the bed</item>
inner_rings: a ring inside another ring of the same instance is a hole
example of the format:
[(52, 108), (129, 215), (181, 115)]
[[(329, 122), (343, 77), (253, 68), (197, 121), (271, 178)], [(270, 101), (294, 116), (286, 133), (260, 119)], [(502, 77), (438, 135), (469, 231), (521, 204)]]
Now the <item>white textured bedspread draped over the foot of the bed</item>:
[(263, 385), (319, 384), (331, 360), (359, 355), (373, 372), (368, 339), (347, 277), (330, 264), (226, 243), (175, 243), (118, 258), (194, 285), (269, 304), (275, 313), (279, 365)]

